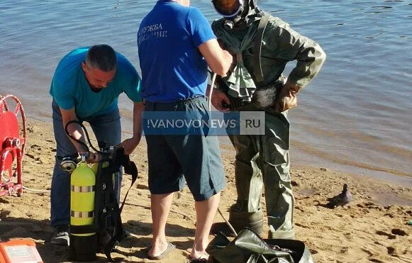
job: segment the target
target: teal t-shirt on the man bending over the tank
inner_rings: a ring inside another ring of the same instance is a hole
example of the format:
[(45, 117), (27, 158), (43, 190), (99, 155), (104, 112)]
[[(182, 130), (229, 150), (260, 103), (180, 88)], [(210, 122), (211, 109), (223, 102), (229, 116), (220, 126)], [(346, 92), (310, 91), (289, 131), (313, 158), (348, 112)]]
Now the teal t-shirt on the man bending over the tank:
[(73, 50), (57, 65), (50, 86), (50, 95), (60, 108), (69, 110), (74, 107), (76, 115), (85, 118), (114, 111), (117, 108), (118, 96), (123, 92), (132, 101), (142, 101), (138, 72), (126, 57), (118, 52), (117, 70), (113, 80), (102, 91), (91, 91), (82, 69), (87, 50), (89, 47)]

